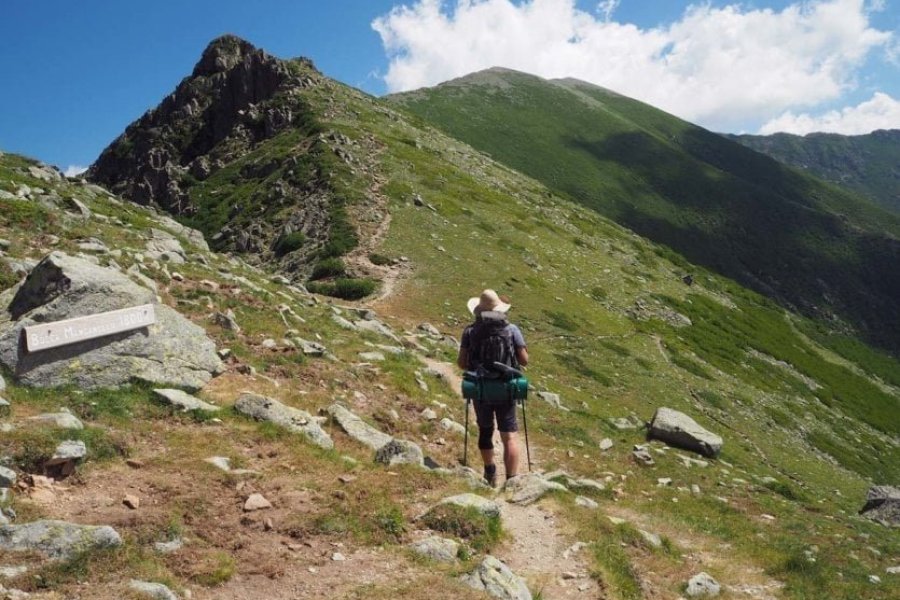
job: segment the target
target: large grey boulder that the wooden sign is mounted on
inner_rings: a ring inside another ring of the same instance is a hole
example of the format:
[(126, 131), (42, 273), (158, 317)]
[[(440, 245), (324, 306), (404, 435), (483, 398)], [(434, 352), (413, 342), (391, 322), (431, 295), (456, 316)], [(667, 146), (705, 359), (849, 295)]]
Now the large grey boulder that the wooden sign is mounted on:
[[(48, 350), (27, 352), (22, 330), (142, 304), (156, 323)], [(19, 383), (114, 388), (133, 380), (199, 389), (222, 368), (206, 332), (115, 269), (53, 252), (17, 289), (0, 315), (0, 362)]]

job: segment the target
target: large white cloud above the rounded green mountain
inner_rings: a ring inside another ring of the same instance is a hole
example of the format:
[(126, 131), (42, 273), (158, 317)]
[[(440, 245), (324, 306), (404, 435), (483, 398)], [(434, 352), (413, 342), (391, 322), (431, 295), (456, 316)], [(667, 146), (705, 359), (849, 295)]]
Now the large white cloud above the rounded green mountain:
[(390, 91), (503, 66), (583, 79), (725, 131), (838, 100), (869, 54), (892, 42), (869, 22), (878, 3), (865, 0), (704, 3), (649, 29), (615, 21), (616, 4), (594, 15), (575, 0), (417, 0), (372, 27)]

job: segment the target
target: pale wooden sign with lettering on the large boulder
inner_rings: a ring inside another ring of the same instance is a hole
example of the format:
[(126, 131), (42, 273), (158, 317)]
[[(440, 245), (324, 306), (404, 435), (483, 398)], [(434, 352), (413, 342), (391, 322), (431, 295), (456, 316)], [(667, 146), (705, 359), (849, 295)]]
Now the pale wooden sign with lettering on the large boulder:
[(65, 321), (41, 323), (25, 328), (25, 348), (29, 352), (139, 329), (156, 323), (152, 304), (76, 317)]

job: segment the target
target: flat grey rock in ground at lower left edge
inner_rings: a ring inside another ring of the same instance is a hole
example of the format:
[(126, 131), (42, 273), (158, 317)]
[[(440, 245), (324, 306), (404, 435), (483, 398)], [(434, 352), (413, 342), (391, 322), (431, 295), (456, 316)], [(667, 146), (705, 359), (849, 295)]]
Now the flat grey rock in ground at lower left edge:
[(122, 538), (112, 527), (49, 520), (0, 526), (0, 550), (39, 552), (55, 559), (121, 544)]

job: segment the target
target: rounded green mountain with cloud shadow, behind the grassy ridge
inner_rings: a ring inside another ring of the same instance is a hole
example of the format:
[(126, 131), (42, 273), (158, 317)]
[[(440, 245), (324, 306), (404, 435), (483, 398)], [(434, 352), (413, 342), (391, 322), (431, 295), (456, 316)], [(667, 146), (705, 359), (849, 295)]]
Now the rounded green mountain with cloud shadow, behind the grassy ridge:
[(490, 69), (389, 98), (619, 223), (900, 350), (900, 218), (651, 106)]

